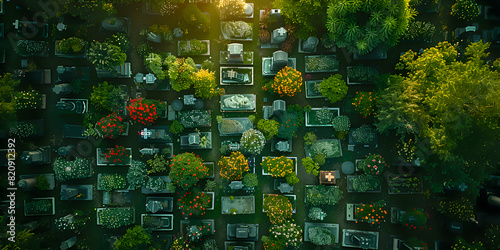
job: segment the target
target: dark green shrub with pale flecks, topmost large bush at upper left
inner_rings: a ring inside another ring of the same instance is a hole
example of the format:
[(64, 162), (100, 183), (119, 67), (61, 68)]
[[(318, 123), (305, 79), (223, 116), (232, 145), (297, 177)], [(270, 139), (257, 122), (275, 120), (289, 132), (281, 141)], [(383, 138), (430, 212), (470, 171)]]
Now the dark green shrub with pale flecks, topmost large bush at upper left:
[(123, 53), (118, 46), (94, 41), (90, 45), (87, 59), (94, 64), (96, 69), (114, 71), (116, 66), (125, 63), (127, 54)]

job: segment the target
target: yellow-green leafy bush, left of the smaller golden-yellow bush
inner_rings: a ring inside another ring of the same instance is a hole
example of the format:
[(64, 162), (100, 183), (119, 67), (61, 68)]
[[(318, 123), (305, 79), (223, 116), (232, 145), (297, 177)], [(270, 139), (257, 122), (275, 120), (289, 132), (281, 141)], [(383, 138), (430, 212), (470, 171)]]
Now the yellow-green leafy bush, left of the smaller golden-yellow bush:
[(191, 88), (193, 85), (194, 74), (198, 69), (191, 57), (175, 58), (175, 56), (168, 56), (165, 59), (168, 65), (168, 76), (172, 89), (180, 92)]

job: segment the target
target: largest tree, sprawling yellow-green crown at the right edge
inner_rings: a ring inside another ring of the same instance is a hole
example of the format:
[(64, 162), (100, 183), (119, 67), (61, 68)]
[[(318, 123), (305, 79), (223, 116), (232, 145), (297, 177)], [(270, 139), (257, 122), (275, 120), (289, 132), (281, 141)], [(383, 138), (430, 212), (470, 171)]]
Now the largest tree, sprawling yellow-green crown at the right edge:
[(478, 185), (500, 159), (493, 152), (494, 138), (500, 135), (500, 106), (496, 105), (500, 73), (484, 61), (488, 48), (489, 43), (472, 43), (463, 58), (447, 42), (426, 49), (419, 56), (408, 51), (396, 65), (408, 72), (400, 79), (403, 84), (394, 85), (391, 81), (385, 91), (415, 96), (412, 102), (399, 103), (394, 111), (385, 105), (387, 102), (382, 103), (379, 112), (385, 113), (378, 119), (381, 128), (396, 128), (400, 126), (397, 121), (386, 119), (394, 114), (417, 128), (417, 155), (429, 163), (424, 167), (432, 176), (435, 191), (442, 191), (445, 182), (465, 182), (469, 192), (477, 194)]

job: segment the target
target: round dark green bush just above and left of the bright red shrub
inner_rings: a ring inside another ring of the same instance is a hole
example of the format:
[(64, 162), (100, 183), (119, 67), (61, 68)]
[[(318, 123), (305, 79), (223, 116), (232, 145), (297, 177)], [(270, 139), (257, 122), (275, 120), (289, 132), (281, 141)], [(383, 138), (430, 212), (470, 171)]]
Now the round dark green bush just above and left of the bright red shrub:
[(121, 99), (121, 90), (107, 81), (99, 83), (92, 87), (93, 91), (90, 95), (90, 102), (100, 109), (110, 112), (118, 111), (123, 108)]

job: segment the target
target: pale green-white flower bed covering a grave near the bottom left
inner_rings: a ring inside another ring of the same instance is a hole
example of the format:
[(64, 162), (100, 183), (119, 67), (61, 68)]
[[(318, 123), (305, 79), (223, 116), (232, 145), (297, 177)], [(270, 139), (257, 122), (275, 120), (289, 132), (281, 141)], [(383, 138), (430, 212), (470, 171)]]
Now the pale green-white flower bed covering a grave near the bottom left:
[(104, 208), (98, 211), (98, 218), (106, 228), (119, 228), (134, 223), (132, 208)]

